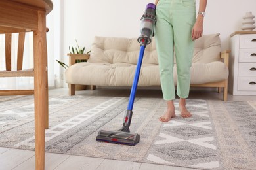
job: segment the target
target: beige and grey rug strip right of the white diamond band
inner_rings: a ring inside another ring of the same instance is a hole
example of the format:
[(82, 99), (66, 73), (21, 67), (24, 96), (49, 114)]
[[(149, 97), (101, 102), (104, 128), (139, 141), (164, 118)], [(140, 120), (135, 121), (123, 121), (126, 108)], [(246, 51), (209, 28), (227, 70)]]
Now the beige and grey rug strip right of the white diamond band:
[(255, 101), (210, 101), (209, 109), (228, 169), (255, 169), (256, 140), (253, 127), (256, 122)]

